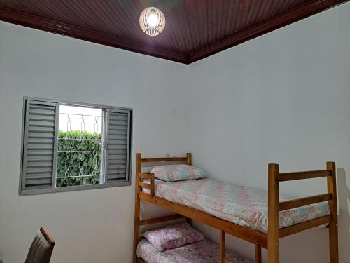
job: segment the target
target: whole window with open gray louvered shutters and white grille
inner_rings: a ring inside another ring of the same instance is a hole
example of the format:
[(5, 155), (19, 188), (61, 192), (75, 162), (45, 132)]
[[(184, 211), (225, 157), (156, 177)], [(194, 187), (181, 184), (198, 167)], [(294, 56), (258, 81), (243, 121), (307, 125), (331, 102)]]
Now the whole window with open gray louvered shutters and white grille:
[(130, 185), (132, 109), (25, 97), (20, 194)]

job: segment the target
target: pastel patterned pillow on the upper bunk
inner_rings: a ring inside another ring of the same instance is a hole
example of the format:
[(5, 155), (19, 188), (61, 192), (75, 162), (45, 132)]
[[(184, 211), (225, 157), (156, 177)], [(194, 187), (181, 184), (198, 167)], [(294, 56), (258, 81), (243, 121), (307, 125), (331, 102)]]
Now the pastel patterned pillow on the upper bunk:
[(204, 170), (187, 164), (173, 164), (169, 166), (155, 166), (151, 170), (155, 177), (166, 182), (193, 180), (206, 177)]

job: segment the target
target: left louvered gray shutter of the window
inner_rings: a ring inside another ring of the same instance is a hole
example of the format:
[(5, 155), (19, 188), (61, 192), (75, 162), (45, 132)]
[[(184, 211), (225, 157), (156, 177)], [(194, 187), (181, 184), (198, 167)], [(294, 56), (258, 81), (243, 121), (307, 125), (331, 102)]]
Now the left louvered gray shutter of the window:
[(21, 192), (55, 187), (59, 104), (27, 100)]

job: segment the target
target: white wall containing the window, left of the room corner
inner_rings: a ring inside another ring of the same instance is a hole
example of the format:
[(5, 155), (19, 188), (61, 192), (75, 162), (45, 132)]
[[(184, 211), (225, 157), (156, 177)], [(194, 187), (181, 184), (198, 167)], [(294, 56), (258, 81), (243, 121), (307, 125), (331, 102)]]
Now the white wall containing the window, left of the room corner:
[[(41, 224), (57, 241), (53, 263), (127, 263), (132, 258), (134, 186), (18, 196), (23, 96), (132, 107), (133, 164), (138, 151), (147, 156), (183, 156), (187, 146), (181, 87), (187, 68), (0, 22), (0, 250), (4, 263), (24, 262)], [(134, 172), (132, 176), (134, 180)]]

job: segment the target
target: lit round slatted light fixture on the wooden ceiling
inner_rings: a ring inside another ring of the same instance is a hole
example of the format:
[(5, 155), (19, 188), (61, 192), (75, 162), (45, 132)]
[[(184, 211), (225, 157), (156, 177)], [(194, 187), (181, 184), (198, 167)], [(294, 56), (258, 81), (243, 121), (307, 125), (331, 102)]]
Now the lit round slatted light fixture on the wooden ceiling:
[(148, 36), (157, 36), (165, 29), (165, 16), (156, 7), (145, 8), (140, 15), (140, 27)]

